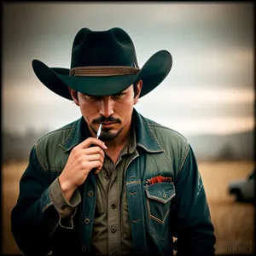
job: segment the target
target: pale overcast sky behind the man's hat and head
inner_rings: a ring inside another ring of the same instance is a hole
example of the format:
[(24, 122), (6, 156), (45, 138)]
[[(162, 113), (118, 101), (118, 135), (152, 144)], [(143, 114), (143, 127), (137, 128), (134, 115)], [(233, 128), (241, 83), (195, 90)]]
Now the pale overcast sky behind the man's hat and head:
[(160, 49), (172, 70), (140, 99), (138, 111), (184, 136), (254, 127), (253, 3), (4, 3), (3, 129), (52, 130), (79, 119), (79, 108), (41, 84), (32, 59), (70, 67), (82, 27), (119, 26), (140, 67)]

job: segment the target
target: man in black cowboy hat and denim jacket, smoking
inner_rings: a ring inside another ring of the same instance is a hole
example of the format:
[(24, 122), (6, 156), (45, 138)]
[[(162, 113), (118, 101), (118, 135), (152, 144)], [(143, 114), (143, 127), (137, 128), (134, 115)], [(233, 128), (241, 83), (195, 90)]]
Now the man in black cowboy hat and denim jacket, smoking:
[(32, 148), (11, 216), (21, 251), (214, 254), (192, 148), (179, 133), (133, 108), (166, 78), (170, 53), (160, 50), (140, 69), (124, 30), (82, 28), (73, 41), (70, 69), (38, 60), (32, 67), (50, 90), (73, 100), (82, 117)]

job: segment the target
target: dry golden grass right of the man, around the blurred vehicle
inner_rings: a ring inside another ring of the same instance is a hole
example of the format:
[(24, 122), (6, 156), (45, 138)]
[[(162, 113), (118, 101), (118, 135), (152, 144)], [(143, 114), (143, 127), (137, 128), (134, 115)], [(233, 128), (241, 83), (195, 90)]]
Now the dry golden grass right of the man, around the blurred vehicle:
[(230, 180), (247, 177), (253, 163), (206, 162), (200, 163), (199, 168), (215, 227), (216, 253), (254, 253), (253, 204), (237, 203), (227, 191)]

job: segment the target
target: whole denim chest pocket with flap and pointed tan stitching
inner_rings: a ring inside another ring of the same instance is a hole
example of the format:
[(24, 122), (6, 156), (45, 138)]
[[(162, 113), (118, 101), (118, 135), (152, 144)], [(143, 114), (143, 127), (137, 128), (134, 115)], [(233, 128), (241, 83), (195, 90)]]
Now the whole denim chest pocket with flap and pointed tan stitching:
[(155, 236), (164, 238), (170, 229), (168, 215), (172, 197), (175, 196), (174, 183), (154, 183), (144, 186), (147, 195), (148, 228)]

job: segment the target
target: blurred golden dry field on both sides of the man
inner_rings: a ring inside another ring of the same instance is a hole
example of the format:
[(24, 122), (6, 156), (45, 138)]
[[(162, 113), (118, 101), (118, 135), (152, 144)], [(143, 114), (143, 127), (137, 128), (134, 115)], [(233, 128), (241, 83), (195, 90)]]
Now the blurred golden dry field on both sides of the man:
[[(254, 207), (236, 203), (227, 193), (230, 180), (247, 177), (252, 168), (253, 162), (199, 163), (217, 237), (216, 254), (254, 253)], [(20, 253), (10, 231), (10, 212), (15, 206), (19, 180), (25, 169), (26, 163), (13, 163), (2, 168), (3, 254)]]

